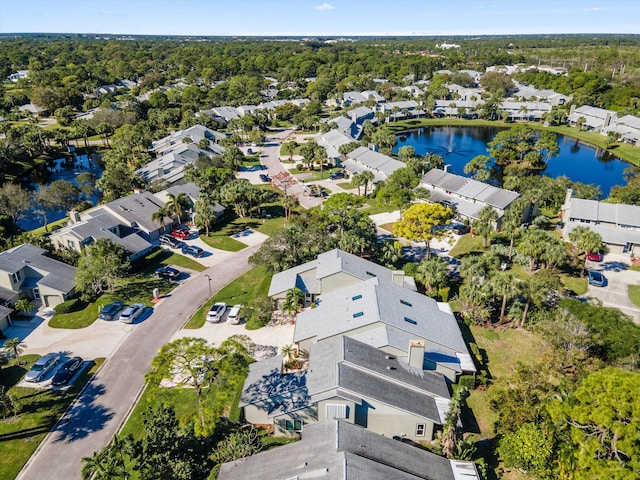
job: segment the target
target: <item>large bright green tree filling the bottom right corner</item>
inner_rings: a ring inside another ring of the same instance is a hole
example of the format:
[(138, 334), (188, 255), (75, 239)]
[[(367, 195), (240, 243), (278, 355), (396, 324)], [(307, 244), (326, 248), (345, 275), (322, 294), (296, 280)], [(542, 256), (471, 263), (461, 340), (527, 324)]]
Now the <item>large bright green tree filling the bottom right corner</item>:
[(567, 401), (549, 406), (569, 454), (560, 467), (576, 480), (632, 478), (640, 471), (640, 374), (605, 368), (584, 379)]

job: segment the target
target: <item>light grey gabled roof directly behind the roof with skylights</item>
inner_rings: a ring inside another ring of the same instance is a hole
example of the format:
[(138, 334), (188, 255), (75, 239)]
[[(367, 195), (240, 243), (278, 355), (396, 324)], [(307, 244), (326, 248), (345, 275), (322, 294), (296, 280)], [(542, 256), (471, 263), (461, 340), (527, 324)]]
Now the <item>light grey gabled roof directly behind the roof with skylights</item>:
[[(321, 253), (315, 260), (276, 273), (271, 278), (268, 295), (272, 297), (294, 287), (300, 288), (305, 293), (318, 294), (321, 293), (320, 281), (340, 272), (351, 275), (359, 281), (376, 276), (386, 283), (393, 283), (397, 275), (393, 270), (336, 248)], [(415, 290), (415, 284), (402, 272), (400, 274), (405, 288)]]

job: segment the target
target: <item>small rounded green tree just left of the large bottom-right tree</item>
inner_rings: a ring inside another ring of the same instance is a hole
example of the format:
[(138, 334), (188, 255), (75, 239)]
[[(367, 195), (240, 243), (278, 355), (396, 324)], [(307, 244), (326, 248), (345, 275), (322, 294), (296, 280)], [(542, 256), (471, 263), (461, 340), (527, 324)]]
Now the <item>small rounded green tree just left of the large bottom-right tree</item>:
[(553, 443), (535, 423), (524, 423), (500, 439), (498, 454), (505, 466), (546, 477), (552, 458)]

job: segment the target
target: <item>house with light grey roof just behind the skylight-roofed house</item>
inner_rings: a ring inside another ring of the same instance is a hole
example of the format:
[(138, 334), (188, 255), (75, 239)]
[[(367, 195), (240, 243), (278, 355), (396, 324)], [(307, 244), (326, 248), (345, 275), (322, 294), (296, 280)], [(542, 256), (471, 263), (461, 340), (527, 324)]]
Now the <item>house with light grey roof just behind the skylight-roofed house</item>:
[(390, 270), (336, 248), (321, 253), (315, 260), (273, 275), (268, 295), (275, 302), (276, 308), (280, 308), (287, 292), (292, 288), (299, 288), (305, 294), (305, 305), (310, 305), (322, 294), (372, 277), (416, 290), (413, 277), (405, 275), (402, 270)]

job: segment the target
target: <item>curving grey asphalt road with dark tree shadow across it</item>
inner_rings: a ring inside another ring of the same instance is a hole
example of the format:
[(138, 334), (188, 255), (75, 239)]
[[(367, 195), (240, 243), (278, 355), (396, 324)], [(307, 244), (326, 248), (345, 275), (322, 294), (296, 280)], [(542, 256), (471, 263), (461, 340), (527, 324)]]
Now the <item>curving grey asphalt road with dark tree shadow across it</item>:
[(151, 316), (135, 325), (111, 358), (80, 393), (20, 474), (20, 480), (79, 479), (82, 458), (107, 445), (126, 420), (144, 386), (144, 376), (160, 347), (170, 341), (189, 316), (227, 283), (249, 270), (249, 256), (259, 245), (238, 252), (196, 274), (157, 304)]

